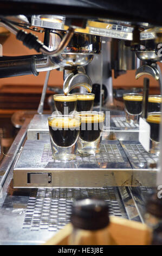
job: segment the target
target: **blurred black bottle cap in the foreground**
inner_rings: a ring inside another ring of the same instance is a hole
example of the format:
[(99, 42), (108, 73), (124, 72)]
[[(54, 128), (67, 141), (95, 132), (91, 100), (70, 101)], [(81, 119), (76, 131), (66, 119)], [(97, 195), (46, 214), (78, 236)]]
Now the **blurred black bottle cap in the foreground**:
[(109, 224), (108, 205), (100, 199), (81, 199), (73, 204), (71, 222), (75, 228), (97, 230)]

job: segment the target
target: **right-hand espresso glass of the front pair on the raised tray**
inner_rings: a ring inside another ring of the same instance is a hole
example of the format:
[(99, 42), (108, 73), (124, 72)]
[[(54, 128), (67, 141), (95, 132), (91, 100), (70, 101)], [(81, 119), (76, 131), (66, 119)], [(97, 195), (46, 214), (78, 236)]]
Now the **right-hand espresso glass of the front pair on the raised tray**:
[(80, 154), (99, 153), (105, 114), (97, 111), (82, 111), (77, 113), (77, 116), (81, 118), (77, 151)]

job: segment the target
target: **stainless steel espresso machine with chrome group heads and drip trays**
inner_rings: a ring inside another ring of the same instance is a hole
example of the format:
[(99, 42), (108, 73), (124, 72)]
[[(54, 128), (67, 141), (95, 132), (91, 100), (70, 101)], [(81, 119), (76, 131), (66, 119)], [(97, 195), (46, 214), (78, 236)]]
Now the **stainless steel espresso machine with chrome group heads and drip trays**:
[[(0, 26), (37, 52), (0, 57), (0, 78), (47, 72), (38, 113), (25, 120), (0, 166), (0, 244), (46, 242), (69, 222), (79, 197), (99, 196), (110, 215), (145, 222), (147, 194), (162, 181), (162, 158), (146, 151), (139, 125), (127, 123), (124, 111), (115, 108), (112, 70), (115, 77), (127, 70), (137, 70), (137, 79), (150, 75), (161, 90), (162, 3), (128, 2), (0, 1)], [(35, 31), (44, 33), (43, 42)], [(48, 115), (43, 114), (53, 69), (63, 71), (64, 94), (97, 88), (94, 109), (109, 111), (110, 117), (99, 154), (76, 154), (68, 162), (53, 159)]]

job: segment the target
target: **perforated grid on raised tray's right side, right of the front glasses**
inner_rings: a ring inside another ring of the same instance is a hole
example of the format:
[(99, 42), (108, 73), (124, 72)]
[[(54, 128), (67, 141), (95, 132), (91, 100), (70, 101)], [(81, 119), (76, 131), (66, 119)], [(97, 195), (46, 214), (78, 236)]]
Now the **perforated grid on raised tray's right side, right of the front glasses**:
[(146, 163), (151, 159), (158, 160), (157, 155), (147, 153), (141, 144), (125, 144), (123, 148), (127, 157), (131, 157), (131, 161), (134, 163)]

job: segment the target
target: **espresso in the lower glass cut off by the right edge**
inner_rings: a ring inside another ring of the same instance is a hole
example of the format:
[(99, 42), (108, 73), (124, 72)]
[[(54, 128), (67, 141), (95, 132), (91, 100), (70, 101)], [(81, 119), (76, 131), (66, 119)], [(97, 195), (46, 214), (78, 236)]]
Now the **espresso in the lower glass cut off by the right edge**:
[(159, 142), (161, 115), (150, 114), (148, 115), (146, 121), (148, 124), (150, 124), (150, 138), (155, 142)]

